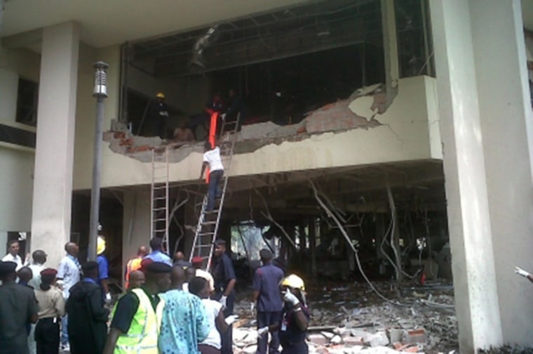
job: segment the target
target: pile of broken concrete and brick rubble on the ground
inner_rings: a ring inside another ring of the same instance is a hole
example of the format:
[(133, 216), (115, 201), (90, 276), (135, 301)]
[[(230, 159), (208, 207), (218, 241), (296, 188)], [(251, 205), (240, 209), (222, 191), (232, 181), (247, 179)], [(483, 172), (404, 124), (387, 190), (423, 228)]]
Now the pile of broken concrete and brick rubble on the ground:
[[(375, 283), (309, 289), (310, 353), (457, 353), (457, 320), (452, 287)], [(249, 301), (236, 303), (241, 320), (234, 329), (235, 353), (255, 353), (257, 322)]]

